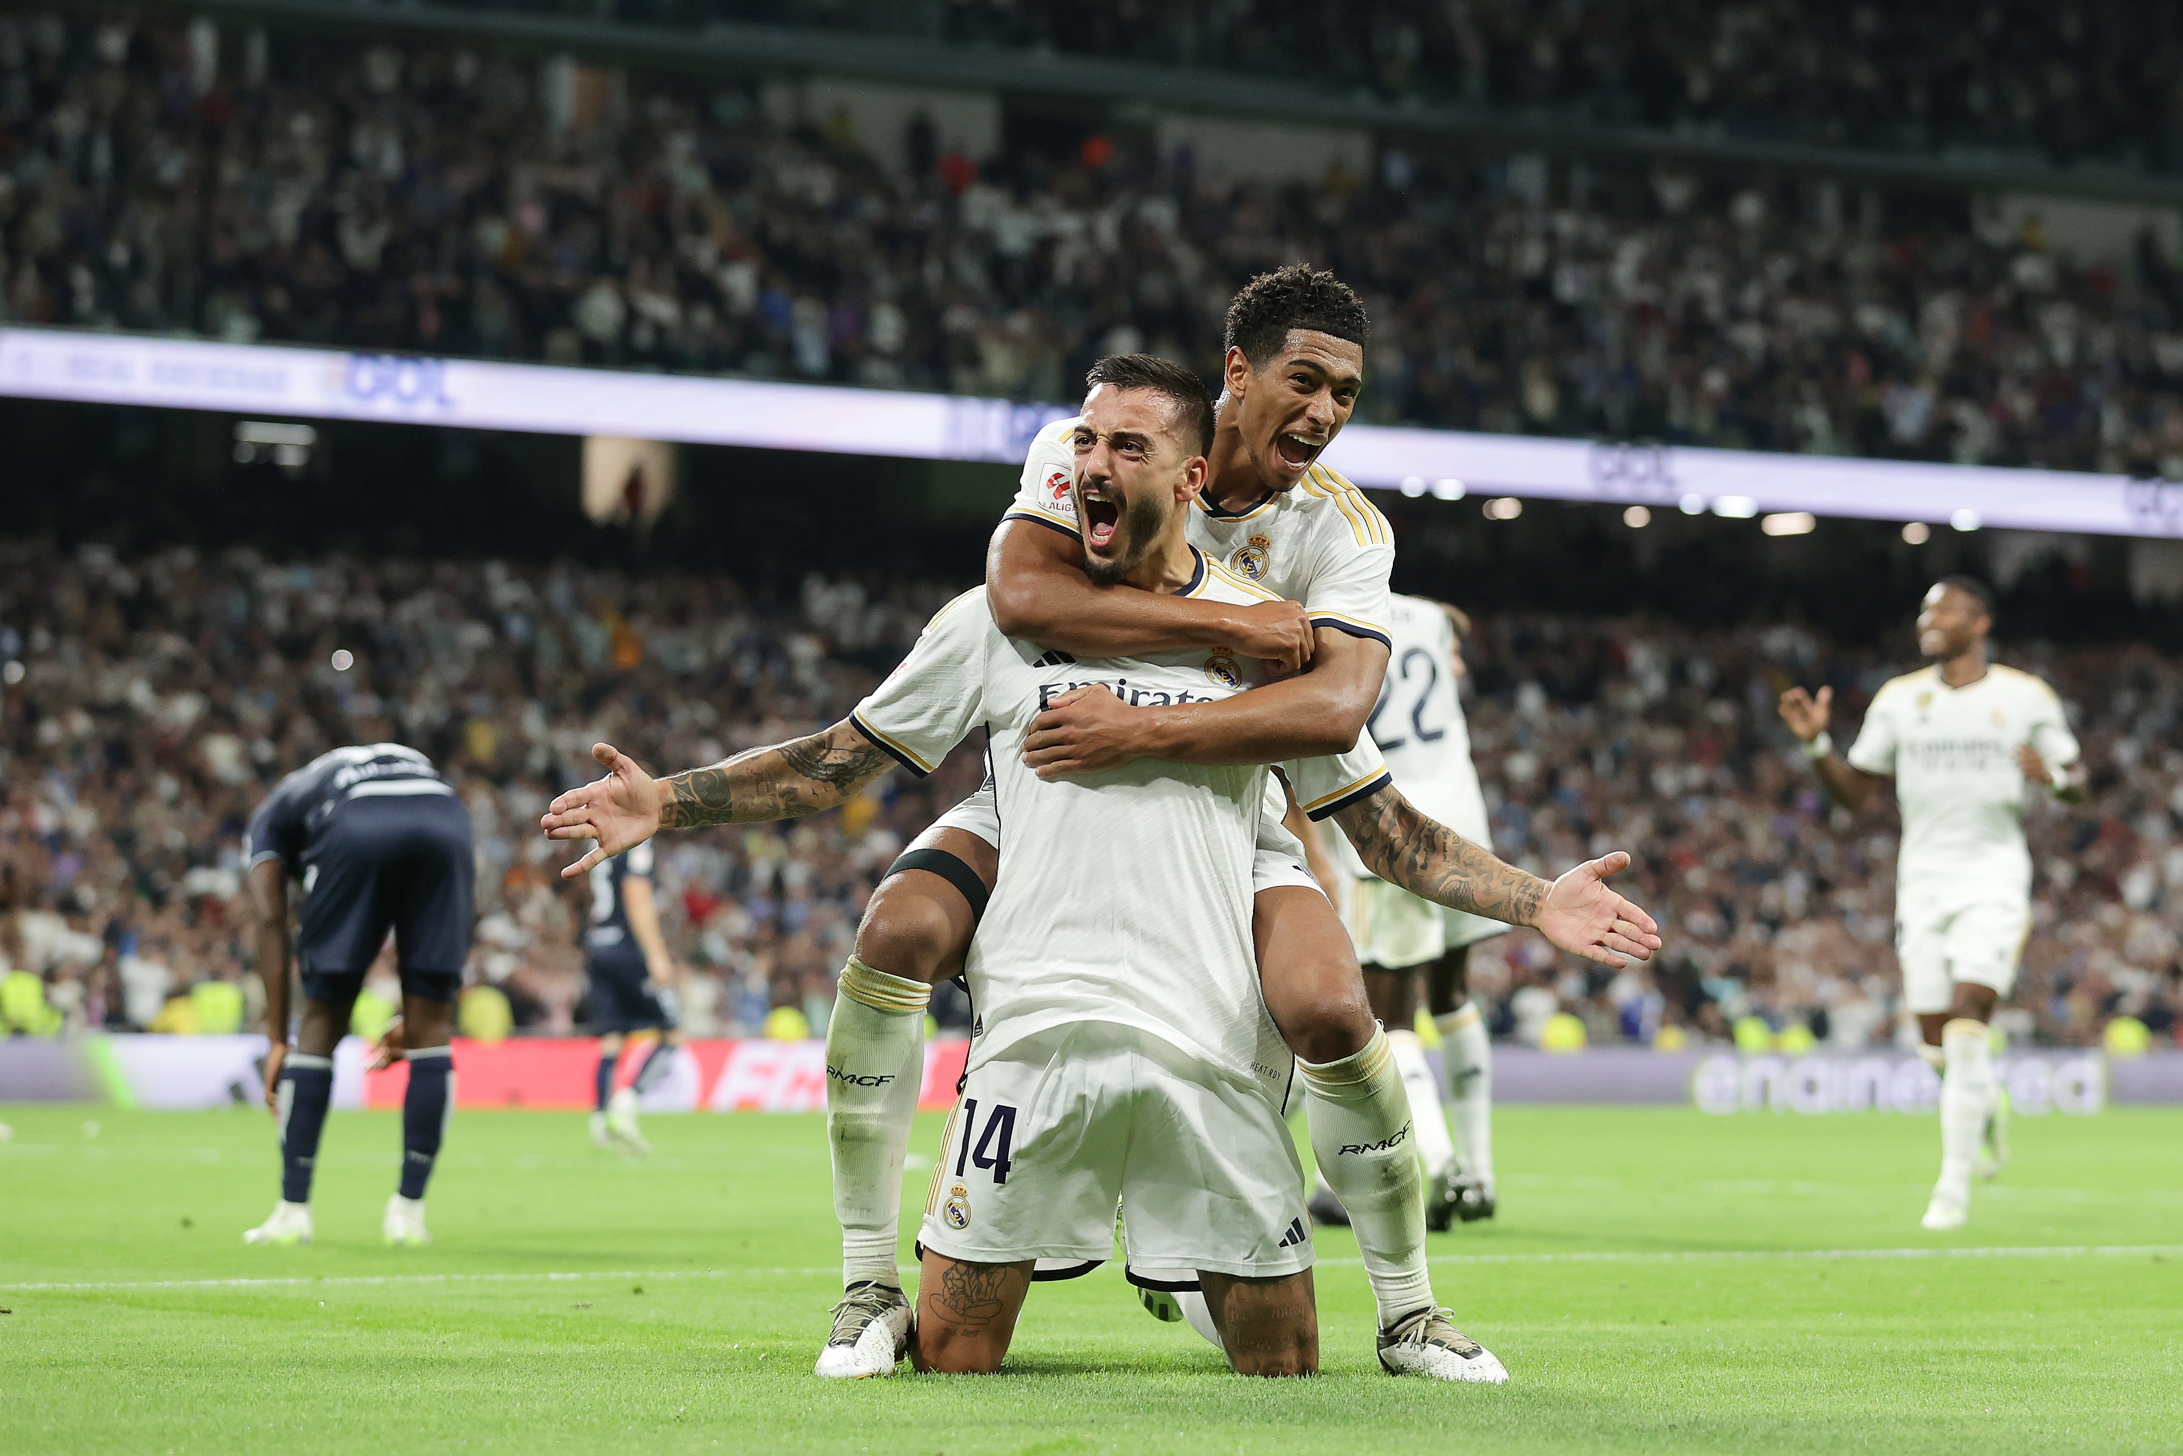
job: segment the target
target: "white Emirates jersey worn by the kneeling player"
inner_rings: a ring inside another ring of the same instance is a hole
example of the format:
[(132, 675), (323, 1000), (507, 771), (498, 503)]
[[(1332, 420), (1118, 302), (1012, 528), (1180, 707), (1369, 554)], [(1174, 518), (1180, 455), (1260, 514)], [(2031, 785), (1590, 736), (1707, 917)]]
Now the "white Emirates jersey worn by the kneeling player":
[[(1264, 594), (1203, 552), (1190, 596)], [(1074, 659), (993, 626), (985, 587), (926, 626), (851, 720), (910, 773), (930, 773), (987, 729), (1000, 814), (1000, 878), (969, 950), (978, 1022), (971, 1067), (1063, 1022), (1137, 1026), (1279, 1098), (1290, 1054), (1266, 1015), (1251, 945), (1251, 860), (1266, 812), (1264, 766), (1133, 762), (1041, 779), (1022, 762), (1041, 707), (1105, 683), (1131, 705), (1207, 703), (1255, 685), (1257, 664), (1194, 648)], [(1332, 812), (1386, 784), (1360, 751), (1284, 764), (1299, 799)]]

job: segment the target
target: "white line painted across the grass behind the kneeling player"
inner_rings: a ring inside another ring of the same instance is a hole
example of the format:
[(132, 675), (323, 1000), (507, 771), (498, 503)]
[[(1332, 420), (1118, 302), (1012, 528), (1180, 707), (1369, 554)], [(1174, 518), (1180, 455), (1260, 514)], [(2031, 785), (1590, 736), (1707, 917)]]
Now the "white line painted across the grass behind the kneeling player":
[[(1598, 1251), (1598, 1253), (1443, 1253), (1432, 1264), (1740, 1264), (1757, 1260), (2128, 1260), (2128, 1257), (2183, 1257), (2183, 1244), (2021, 1244), (2021, 1246), (1978, 1246), (1978, 1249), (1690, 1249), (1683, 1253), (1657, 1251)], [(1319, 1260), (1321, 1268), (1358, 1268), (1364, 1260)], [(915, 1270), (915, 1264), (902, 1268)], [(548, 1270), (528, 1275), (347, 1275), (314, 1279), (297, 1275), (288, 1279), (129, 1279), (105, 1284), (0, 1284), (4, 1290), (251, 1290), (251, 1288), (345, 1288), (378, 1284), (565, 1284), (572, 1279), (803, 1279), (838, 1275), (838, 1264), (814, 1268), (603, 1268), (603, 1270)]]

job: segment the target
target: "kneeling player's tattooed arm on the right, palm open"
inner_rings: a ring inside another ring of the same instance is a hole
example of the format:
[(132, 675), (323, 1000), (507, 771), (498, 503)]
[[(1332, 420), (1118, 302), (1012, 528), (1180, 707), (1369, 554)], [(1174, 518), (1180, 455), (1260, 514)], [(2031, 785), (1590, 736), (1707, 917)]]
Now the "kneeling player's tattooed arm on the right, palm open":
[(1629, 869), (1622, 851), (1548, 884), (1428, 819), (1393, 784), (1338, 810), (1334, 823), (1367, 869), (1434, 904), (1530, 926), (1561, 950), (1602, 965), (1620, 967), (1624, 956), (1650, 960), (1659, 950), (1653, 917), (1605, 884)]

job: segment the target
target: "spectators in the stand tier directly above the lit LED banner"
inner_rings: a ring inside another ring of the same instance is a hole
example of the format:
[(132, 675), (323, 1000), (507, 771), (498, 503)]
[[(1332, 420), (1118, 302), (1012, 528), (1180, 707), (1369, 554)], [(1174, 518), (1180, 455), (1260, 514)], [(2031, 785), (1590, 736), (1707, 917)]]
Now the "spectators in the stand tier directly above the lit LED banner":
[(1107, 138), (978, 166), (919, 120), (893, 172), (847, 114), (557, 65), (0, 13), (0, 321), (1054, 399), (1107, 351), (1212, 367), (1233, 286), (1310, 258), (1377, 319), (1367, 419), (2183, 476), (2150, 236), (1395, 146), (1286, 188)]

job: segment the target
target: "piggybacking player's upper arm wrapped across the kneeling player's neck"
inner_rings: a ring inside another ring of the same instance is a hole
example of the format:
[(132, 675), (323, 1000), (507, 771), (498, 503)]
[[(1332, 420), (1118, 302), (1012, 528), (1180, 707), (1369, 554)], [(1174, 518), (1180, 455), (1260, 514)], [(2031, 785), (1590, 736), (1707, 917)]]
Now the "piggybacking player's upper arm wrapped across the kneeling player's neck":
[(1297, 602), (1216, 602), (1098, 585), (1083, 544), (1059, 524), (1011, 515), (985, 554), (993, 624), (1009, 637), (1078, 657), (1148, 657), (1227, 646), (1295, 672), (1312, 659), (1312, 626)]

